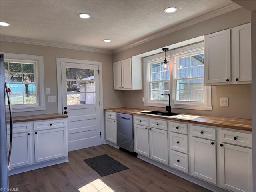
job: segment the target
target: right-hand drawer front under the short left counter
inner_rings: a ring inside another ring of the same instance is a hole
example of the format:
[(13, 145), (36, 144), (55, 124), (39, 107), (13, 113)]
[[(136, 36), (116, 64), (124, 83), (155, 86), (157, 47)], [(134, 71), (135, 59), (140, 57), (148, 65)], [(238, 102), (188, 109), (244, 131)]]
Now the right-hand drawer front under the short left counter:
[(66, 120), (45, 120), (34, 122), (34, 130), (54, 129), (66, 127)]

